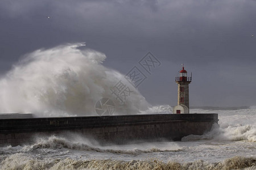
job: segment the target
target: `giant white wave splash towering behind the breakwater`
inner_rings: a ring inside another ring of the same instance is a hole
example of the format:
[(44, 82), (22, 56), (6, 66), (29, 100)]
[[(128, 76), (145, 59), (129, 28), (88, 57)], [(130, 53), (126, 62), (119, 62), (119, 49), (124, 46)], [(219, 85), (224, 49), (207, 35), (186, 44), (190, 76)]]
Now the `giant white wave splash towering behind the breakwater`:
[[(35, 116), (97, 115), (102, 97), (114, 101), (114, 114), (136, 114), (148, 108), (144, 97), (118, 71), (102, 65), (105, 54), (80, 50), (82, 43), (39, 49), (26, 54), (0, 79), (0, 113)], [(110, 91), (121, 80), (131, 95), (120, 104)]]

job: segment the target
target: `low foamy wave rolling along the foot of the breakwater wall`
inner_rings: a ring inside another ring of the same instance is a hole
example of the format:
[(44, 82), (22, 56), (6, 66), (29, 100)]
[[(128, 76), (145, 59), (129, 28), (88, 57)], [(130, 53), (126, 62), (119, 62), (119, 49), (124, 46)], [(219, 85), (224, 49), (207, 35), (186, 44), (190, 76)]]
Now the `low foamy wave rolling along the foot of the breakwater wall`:
[[(6, 151), (7, 147), (2, 148), (0, 152)], [(148, 152), (176, 152), (180, 151), (181, 147), (177, 146), (175, 143), (169, 143), (164, 147), (159, 147), (154, 145), (154, 143), (143, 144), (136, 143), (133, 145), (112, 145), (112, 146), (101, 146), (97, 141), (92, 141), (91, 139), (86, 139), (81, 137), (79, 134), (73, 134), (66, 137), (59, 137), (52, 135), (50, 137), (37, 137), (36, 141), (32, 145), (25, 145), (19, 148), (19, 152), (26, 153), (28, 151), (34, 151), (42, 148), (50, 149), (61, 149), (68, 148), (71, 150), (80, 151), (94, 151), (102, 153), (112, 153), (112, 154), (129, 154), (129, 155), (139, 155), (141, 153)], [(8, 147), (10, 150), (11, 147)], [(8, 154), (9, 152), (3, 152), (3, 154)], [(13, 152), (10, 152), (12, 154)]]

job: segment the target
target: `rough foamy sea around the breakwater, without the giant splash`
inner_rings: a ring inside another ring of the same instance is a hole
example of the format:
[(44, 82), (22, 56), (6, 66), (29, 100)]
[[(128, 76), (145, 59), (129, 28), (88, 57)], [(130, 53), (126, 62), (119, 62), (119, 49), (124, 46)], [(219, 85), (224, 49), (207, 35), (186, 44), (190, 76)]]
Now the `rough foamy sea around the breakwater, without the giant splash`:
[[(168, 105), (148, 109), (170, 111)], [(0, 169), (256, 169), (256, 107), (191, 113), (218, 113), (220, 126), (179, 142), (118, 146), (100, 146), (79, 134), (37, 137), (31, 145), (1, 147)]]

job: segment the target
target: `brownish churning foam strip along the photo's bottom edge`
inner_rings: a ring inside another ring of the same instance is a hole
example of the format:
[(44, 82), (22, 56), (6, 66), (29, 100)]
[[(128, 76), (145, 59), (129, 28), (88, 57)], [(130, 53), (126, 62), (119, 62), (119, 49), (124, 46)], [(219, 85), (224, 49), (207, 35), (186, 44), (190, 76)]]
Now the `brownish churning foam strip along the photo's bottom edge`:
[(14, 154), (7, 157), (0, 164), (1, 169), (242, 169), (255, 167), (256, 158), (235, 156), (224, 162), (208, 163), (204, 160), (195, 162), (178, 163), (170, 161), (164, 163), (161, 160), (112, 160), (92, 159), (75, 160), (66, 159), (34, 159), (26, 154)]

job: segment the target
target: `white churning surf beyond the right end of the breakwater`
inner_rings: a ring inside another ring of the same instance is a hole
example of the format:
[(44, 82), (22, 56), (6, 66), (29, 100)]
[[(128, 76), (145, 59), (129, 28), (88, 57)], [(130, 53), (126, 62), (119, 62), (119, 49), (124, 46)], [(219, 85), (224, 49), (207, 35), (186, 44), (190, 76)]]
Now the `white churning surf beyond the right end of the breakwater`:
[(204, 110), (191, 109), (197, 113), (218, 113), (218, 125), (204, 135), (188, 135), (182, 141), (213, 140), (213, 141), (249, 141), (256, 142), (256, 109), (240, 110)]

